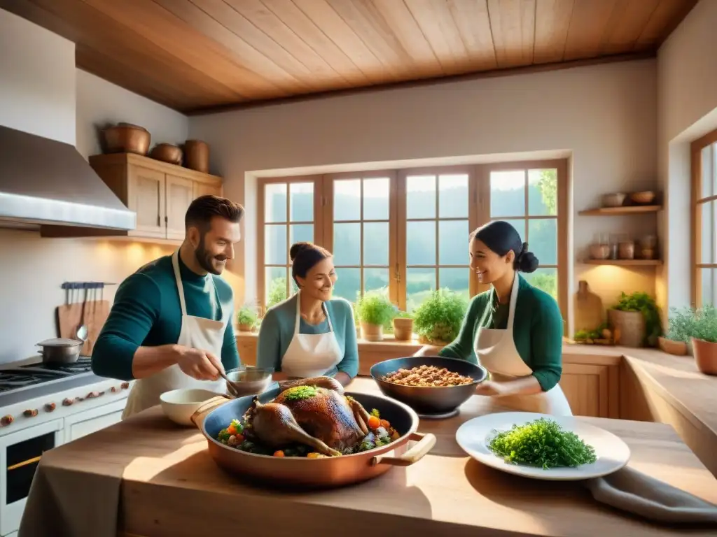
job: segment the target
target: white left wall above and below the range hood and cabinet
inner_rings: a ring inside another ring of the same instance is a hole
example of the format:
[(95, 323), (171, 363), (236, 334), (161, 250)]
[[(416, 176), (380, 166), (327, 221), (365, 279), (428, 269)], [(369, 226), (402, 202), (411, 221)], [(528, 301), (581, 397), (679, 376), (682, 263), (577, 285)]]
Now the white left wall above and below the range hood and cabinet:
[[(186, 139), (187, 119), (172, 110), (75, 69), (75, 45), (0, 9), (0, 124), (98, 152), (95, 125), (144, 125), (153, 141)], [(75, 92), (77, 81), (77, 92)], [(56, 337), (55, 308), (63, 281), (119, 283), (171, 249), (141, 243), (40, 238), (0, 229), (0, 364), (37, 354)], [(105, 291), (110, 301), (116, 286)]]

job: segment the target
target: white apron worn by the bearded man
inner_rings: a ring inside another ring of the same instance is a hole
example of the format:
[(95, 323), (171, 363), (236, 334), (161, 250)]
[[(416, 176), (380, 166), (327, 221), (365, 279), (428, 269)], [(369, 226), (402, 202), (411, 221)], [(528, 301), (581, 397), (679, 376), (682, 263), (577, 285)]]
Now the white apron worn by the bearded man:
[[(184, 286), (181, 283), (178, 256), (179, 251), (175, 251), (172, 255), (174, 278), (177, 283), (177, 291), (179, 291), (179, 304), (181, 304), (181, 329), (176, 343), (190, 349), (211, 352), (218, 358), (222, 355), (224, 330), (227, 329), (231, 312), (222, 311), (221, 321), (186, 314)], [(212, 281), (212, 291), (215, 291), (214, 279), (212, 276), (209, 276), (209, 279)], [(197, 380), (185, 374), (178, 364), (174, 364), (153, 374), (151, 377), (138, 379), (133, 383), (132, 390), (130, 390), (130, 394), (127, 397), (127, 405), (125, 405), (125, 410), (122, 412), (122, 419), (125, 420), (130, 415), (154, 405), (159, 405), (160, 395), (180, 388), (201, 388), (202, 390), (217, 392), (217, 394), (222, 394), (227, 390), (224, 379), (221, 377), (218, 380)]]

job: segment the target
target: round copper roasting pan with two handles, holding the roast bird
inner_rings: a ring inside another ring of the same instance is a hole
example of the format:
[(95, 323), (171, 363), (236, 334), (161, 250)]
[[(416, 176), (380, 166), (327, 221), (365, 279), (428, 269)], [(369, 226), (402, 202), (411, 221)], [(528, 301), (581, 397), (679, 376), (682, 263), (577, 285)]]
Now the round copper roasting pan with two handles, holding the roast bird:
[[(264, 392), (261, 402), (270, 402), (279, 395), (279, 388)], [(251, 395), (227, 400), (219, 396), (206, 401), (191, 417), (206, 437), (209, 455), (220, 468), (260, 485), (282, 488), (333, 488), (361, 483), (386, 473), (394, 466), (417, 463), (435, 445), (436, 437), (417, 431), (419, 417), (407, 405), (380, 395), (346, 392), (364, 405), (366, 410), (378, 409), (401, 437), (374, 450), (331, 458), (295, 458), (257, 455), (230, 448), (216, 440), (219, 431), (234, 419), (240, 419), (252, 403)], [(409, 440), (417, 443), (408, 448)]]

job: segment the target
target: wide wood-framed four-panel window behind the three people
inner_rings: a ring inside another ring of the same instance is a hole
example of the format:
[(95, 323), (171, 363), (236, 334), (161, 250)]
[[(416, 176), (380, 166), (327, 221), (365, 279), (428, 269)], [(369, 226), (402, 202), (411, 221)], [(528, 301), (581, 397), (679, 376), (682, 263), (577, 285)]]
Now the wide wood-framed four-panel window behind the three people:
[(381, 170), (262, 180), (262, 306), (295, 291), (288, 248), (313, 240), (333, 252), (336, 295), (385, 292), (412, 310), (431, 291), (469, 299), (487, 289), (468, 267), (468, 235), (509, 221), (540, 269), (526, 278), (567, 303), (566, 161)]

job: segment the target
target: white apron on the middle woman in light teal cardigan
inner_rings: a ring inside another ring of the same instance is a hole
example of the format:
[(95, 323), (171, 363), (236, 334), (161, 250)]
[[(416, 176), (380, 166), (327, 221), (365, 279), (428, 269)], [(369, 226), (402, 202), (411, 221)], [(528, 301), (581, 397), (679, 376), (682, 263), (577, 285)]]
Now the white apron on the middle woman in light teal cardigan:
[(320, 377), (333, 369), (338, 362), (341, 362), (343, 352), (341, 352), (336, 335), (333, 333), (333, 325), (331, 317), (328, 316), (326, 304), (321, 304), (321, 307), (328, 321), (328, 332), (326, 334), (300, 334), (300, 293), (301, 291), (298, 291), (296, 294), (294, 336), (281, 359), (281, 372), (289, 377), (308, 379)]

